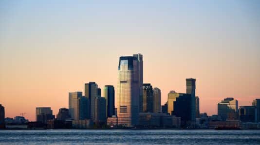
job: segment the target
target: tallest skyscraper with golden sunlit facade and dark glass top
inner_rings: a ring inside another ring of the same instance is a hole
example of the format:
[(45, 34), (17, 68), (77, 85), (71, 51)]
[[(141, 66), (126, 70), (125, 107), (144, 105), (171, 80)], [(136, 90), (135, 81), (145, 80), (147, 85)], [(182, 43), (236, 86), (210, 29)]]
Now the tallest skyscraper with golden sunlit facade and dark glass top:
[(117, 116), (118, 124), (124, 126), (138, 125), (140, 100), (140, 65), (142, 55), (137, 57), (121, 56), (118, 65), (117, 81)]

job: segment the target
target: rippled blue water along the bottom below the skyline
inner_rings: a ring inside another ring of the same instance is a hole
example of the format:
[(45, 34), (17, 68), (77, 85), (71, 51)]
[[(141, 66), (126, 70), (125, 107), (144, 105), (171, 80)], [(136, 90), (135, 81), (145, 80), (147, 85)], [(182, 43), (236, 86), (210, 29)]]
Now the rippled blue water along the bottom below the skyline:
[(0, 130), (0, 145), (260, 145), (260, 130)]

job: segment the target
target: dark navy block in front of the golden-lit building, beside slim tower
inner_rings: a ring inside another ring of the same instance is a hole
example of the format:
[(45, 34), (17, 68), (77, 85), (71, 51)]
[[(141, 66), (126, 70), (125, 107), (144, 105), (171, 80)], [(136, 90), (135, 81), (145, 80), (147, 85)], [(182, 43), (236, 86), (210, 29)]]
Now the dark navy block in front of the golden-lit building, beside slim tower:
[(173, 112), (172, 115), (181, 117), (182, 126), (186, 126), (188, 121), (192, 121), (192, 106), (190, 105), (192, 101), (190, 94), (181, 94), (173, 102)]

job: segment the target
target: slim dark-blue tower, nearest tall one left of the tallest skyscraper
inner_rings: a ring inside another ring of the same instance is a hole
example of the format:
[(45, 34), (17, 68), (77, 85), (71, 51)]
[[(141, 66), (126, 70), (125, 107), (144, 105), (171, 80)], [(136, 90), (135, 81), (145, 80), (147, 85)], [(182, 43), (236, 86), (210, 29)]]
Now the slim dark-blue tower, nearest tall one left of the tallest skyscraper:
[(114, 109), (114, 86), (112, 85), (105, 85), (104, 87), (104, 97), (107, 100), (106, 108), (107, 108), (107, 117), (111, 117), (115, 115)]

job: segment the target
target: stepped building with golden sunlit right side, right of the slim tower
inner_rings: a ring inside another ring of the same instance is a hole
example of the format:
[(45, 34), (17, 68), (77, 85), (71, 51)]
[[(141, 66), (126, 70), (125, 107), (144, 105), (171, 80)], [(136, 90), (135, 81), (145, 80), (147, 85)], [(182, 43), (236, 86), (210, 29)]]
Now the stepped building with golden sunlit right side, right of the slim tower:
[(228, 117), (228, 113), (238, 112), (238, 100), (234, 100), (233, 97), (224, 98), (218, 103), (218, 115), (220, 115), (225, 121)]

